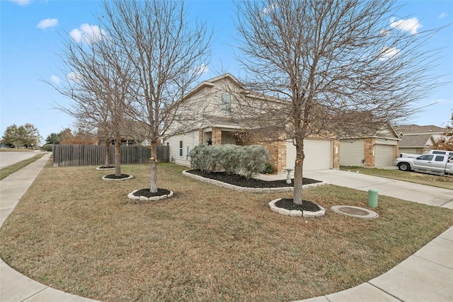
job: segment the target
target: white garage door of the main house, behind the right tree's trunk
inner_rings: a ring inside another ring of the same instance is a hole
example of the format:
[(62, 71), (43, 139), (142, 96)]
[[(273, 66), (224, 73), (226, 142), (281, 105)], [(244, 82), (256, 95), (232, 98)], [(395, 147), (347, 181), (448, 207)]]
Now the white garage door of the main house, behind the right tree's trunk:
[[(323, 170), (333, 167), (333, 146), (331, 139), (305, 139), (304, 140), (304, 171)], [(294, 168), (296, 147), (292, 142), (287, 142), (287, 167)]]

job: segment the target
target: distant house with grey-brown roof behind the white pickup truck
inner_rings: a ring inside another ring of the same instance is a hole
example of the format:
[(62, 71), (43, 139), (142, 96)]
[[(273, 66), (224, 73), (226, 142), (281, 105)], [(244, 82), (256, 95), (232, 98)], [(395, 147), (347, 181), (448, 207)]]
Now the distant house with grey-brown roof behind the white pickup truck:
[(401, 137), (400, 153), (426, 154), (435, 141), (442, 137), (445, 129), (433, 125), (403, 124), (395, 127), (395, 131)]

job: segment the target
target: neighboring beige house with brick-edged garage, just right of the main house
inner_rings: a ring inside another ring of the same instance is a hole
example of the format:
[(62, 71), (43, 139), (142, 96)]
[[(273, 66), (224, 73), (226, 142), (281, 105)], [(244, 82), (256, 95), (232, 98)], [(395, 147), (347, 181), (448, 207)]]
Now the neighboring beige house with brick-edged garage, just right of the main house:
[(374, 135), (340, 139), (340, 165), (379, 168), (393, 165), (401, 141), (393, 127)]

